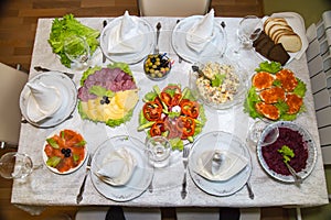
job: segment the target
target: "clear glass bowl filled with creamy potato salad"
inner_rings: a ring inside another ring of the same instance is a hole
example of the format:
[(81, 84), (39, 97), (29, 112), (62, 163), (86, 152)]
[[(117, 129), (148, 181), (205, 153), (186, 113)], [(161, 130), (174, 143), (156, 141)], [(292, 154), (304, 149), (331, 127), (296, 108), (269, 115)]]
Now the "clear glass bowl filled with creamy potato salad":
[(192, 66), (189, 85), (197, 100), (212, 109), (224, 110), (244, 99), (247, 73), (226, 57), (210, 59)]

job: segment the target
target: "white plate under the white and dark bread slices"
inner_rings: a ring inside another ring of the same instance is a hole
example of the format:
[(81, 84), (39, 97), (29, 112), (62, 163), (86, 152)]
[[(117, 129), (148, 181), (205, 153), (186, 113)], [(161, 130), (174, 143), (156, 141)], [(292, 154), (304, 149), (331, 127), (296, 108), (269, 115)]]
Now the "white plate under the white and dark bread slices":
[[(279, 12), (274, 13), (270, 16), (273, 18), (284, 18), (288, 24), (293, 29), (293, 31), (299, 35), (302, 42), (302, 47), (299, 52), (296, 53), (288, 53), (290, 58), (287, 61), (286, 64), (289, 64), (293, 58), (299, 59), (301, 55), (306, 52), (308, 48), (308, 40), (306, 35), (306, 28), (305, 28), (305, 21), (302, 16), (295, 12)], [(265, 22), (269, 16), (264, 16), (263, 21)], [(263, 59), (263, 61), (269, 61), (259, 53), (256, 52), (256, 54)]]

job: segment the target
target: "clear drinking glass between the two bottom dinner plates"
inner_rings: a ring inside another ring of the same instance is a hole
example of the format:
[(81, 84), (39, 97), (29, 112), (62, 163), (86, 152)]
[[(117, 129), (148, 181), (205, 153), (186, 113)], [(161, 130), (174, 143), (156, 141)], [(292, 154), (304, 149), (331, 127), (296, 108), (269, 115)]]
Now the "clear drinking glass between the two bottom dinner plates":
[(150, 163), (154, 167), (166, 167), (169, 165), (171, 145), (164, 136), (151, 136), (146, 142), (147, 153)]

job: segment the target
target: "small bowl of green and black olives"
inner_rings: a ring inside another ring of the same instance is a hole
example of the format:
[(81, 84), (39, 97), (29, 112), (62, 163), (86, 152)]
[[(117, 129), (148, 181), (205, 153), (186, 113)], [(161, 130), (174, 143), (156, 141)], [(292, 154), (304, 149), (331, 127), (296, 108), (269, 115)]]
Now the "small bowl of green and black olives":
[(149, 54), (143, 62), (146, 76), (151, 80), (164, 79), (171, 70), (171, 58), (166, 54)]

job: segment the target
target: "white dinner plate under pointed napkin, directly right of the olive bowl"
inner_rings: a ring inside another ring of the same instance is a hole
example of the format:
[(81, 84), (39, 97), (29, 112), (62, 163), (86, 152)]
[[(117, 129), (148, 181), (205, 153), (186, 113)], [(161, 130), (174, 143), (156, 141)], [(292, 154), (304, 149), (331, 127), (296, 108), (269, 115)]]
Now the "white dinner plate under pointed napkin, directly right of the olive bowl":
[(181, 20), (172, 32), (171, 43), (175, 53), (183, 59), (195, 63), (209, 57), (222, 57), (226, 50), (226, 33), (220, 23), (214, 22), (215, 37), (206, 44), (204, 50), (200, 53), (192, 50), (186, 44), (186, 34), (189, 30), (201, 19), (203, 15), (193, 15)]

